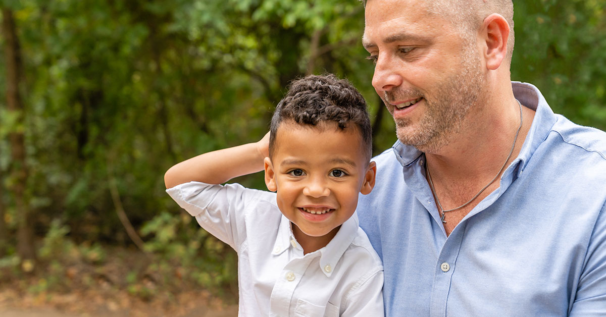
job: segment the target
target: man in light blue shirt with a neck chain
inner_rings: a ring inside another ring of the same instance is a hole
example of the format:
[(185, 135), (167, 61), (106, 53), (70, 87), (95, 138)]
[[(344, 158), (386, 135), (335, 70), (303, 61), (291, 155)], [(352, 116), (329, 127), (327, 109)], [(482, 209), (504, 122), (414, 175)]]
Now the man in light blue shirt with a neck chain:
[[(511, 0), (368, 0), (387, 316), (606, 316), (606, 133), (510, 81)], [(551, 87), (544, 87), (546, 89)]]

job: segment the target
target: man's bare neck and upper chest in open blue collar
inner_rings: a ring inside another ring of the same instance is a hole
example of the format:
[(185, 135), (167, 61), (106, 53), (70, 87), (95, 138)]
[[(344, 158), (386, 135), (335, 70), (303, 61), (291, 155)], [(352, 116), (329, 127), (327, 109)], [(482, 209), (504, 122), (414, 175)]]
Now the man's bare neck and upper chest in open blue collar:
[(513, 94), (502, 104), (485, 105), (470, 115), (463, 122), (465, 128), (452, 136), (448, 145), (435, 153), (425, 153), (436, 195), (445, 210), (454, 209), (473, 198), (493, 178), (496, 180), (465, 208), (448, 213), (444, 225), (447, 235), (473, 207), (498, 189), (498, 179), (505, 169), (499, 170), (518, 156), (534, 111), (522, 106), (522, 127), (507, 162), (520, 125), (520, 108)]

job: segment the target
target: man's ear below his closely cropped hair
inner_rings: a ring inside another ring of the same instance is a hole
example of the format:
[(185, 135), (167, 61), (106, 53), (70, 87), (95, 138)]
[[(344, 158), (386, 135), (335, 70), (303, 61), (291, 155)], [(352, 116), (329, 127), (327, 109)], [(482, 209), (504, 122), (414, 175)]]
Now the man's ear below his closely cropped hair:
[(509, 24), (502, 15), (493, 13), (484, 19), (482, 32), (485, 41), (484, 58), (486, 68), (496, 70), (507, 57)]

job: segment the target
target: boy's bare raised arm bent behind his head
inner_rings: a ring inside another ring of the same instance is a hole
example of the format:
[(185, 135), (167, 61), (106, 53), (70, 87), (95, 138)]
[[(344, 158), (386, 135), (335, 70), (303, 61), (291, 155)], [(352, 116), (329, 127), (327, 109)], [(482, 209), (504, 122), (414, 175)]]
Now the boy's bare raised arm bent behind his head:
[(269, 156), (269, 132), (258, 142), (204, 153), (180, 162), (164, 174), (167, 189), (186, 182), (221, 184), (263, 170)]

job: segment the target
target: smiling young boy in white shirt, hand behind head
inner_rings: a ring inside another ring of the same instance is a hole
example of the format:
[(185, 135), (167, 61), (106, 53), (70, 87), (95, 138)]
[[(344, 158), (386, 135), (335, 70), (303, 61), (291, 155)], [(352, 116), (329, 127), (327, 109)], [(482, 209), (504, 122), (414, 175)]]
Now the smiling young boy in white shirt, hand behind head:
[[(362, 95), (334, 75), (294, 81), (256, 143), (164, 176), (168, 194), (238, 252), (239, 316), (383, 316), (383, 267), (353, 215), (375, 185)], [(219, 185), (265, 170), (271, 192)], [(275, 192), (275, 193), (273, 193)]]

